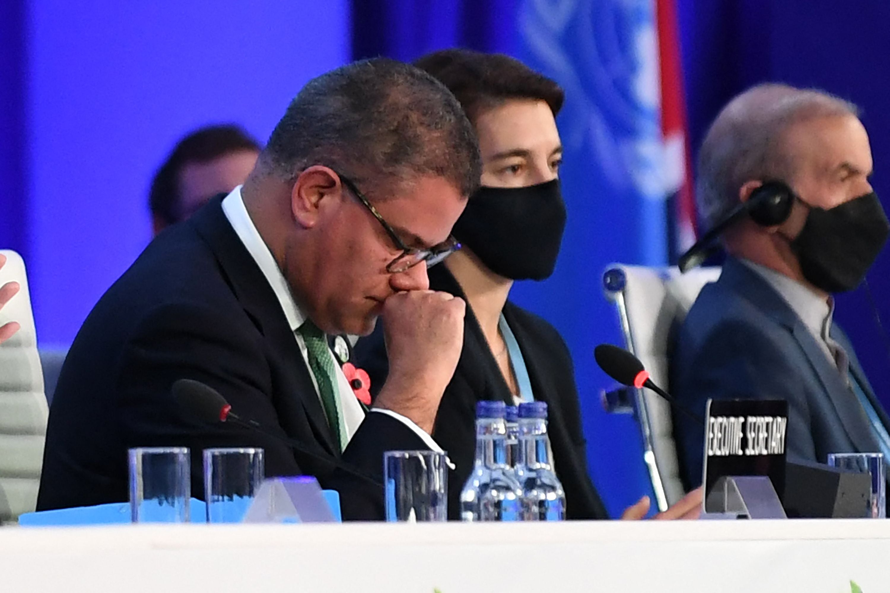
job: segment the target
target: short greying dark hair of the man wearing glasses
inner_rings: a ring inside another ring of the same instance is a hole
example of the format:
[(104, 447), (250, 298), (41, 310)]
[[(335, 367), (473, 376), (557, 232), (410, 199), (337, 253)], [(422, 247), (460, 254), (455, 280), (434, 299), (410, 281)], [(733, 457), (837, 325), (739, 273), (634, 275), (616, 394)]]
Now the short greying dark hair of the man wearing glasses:
[(375, 183), (423, 175), (469, 196), (481, 176), (473, 126), (454, 96), (433, 76), (385, 58), (309, 81), (260, 155), (263, 173), (289, 181), (313, 164), (363, 180), (372, 198)]

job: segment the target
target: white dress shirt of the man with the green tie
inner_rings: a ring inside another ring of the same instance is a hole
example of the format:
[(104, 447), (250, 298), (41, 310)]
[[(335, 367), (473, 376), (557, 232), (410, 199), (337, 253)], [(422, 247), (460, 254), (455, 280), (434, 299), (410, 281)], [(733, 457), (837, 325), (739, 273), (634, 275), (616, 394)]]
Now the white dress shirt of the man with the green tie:
[[(235, 233), (238, 235), (241, 243), (247, 248), (247, 252), (250, 253), (251, 257), (254, 258), (256, 265), (260, 268), (260, 271), (263, 272), (263, 276), (265, 276), (266, 280), (269, 282), (272, 291), (275, 292), (275, 296), (279, 300), (285, 317), (287, 317), (287, 323), (290, 325), (291, 332), (294, 333), (294, 339), (300, 347), (300, 353), (303, 354), (303, 361), (305, 361), (306, 368), (308, 369), (309, 354), (306, 349), (306, 343), (303, 341), (303, 336), (297, 332), (300, 326), (303, 325), (303, 322), (306, 321), (306, 316), (303, 314), (303, 311), (297, 307), (296, 302), (294, 301), (294, 295), (290, 292), (290, 285), (287, 284), (287, 280), (281, 273), (278, 264), (275, 262), (275, 258), (272, 257), (269, 247), (263, 241), (263, 237), (260, 236), (259, 231), (256, 230), (254, 221), (250, 219), (250, 215), (247, 213), (247, 208), (244, 205), (244, 200), (241, 198), (241, 186), (232, 189), (231, 193), (223, 199), (223, 213), (225, 214), (226, 219), (229, 220), (231, 227), (235, 229)], [(340, 409), (343, 411), (344, 428), (346, 430), (345, 434), (348, 442), (352, 439), (352, 435), (355, 434), (355, 431), (359, 429), (361, 422), (365, 420), (365, 412), (362, 410), (359, 400), (355, 397), (355, 393), (352, 391), (349, 381), (346, 380), (346, 375), (340, 367), (340, 362), (336, 360), (334, 353), (331, 352), (330, 349), (328, 349), (328, 356), (333, 360), (334, 368), (336, 369), (336, 396), (340, 400)], [(312, 384), (315, 386), (315, 392), (320, 398), (319, 384), (318, 381), (315, 380), (315, 375), (312, 374), (311, 369), (309, 375), (312, 377)], [(372, 408), (371, 412), (389, 414), (393, 418), (403, 422), (409, 429), (414, 430), (414, 432), (417, 433), (417, 436), (421, 437), (430, 449), (441, 452), (441, 447), (436, 444), (433, 437), (430, 437), (423, 429), (418, 427), (417, 424), (410, 421), (405, 416), (402, 416), (399, 413), (394, 413), (391, 410), (380, 410), (376, 408)]]

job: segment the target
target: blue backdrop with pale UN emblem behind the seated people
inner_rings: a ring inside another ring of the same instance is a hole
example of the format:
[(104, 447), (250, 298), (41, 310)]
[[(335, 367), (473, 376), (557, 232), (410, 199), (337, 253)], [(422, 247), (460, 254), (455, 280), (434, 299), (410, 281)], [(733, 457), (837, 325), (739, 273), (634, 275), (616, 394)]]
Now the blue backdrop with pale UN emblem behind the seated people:
[[(850, 3), (847, 3), (850, 4)], [(690, 132), (763, 80), (814, 85), (864, 108), (875, 187), (890, 196), (890, 5), (677, 0)], [(647, 492), (635, 428), (607, 417), (591, 351), (619, 341), (600, 276), (659, 264), (658, 104), (649, 0), (99, 0), (0, 2), (0, 246), (28, 259), (38, 336), (67, 344), (150, 238), (149, 180), (190, 128), (238, 121), (261, 140), (311, 76), (352, 56), (412, 60), (463, 45), (511, 53), (567, 90), (558, 119), (570, 220), (554, 276), (514, 298), (556, 325), (575, 357), (591, 469), (612, 513)], [(890, 324), (890, 251), (871, 274)], [(866, 295), (838, 299), (880, 397), (886, 340)]]

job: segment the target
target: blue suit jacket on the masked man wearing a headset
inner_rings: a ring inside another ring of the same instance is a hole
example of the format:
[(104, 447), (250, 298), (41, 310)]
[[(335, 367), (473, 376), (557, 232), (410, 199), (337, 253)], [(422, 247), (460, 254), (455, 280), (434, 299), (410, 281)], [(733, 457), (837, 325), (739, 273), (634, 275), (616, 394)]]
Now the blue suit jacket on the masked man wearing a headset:
[[(837, 325), (831, 337), (885, 426), (853, 346)], [(862, 405), (789, 304), (739, 260), (728, 258), (716, 283), (702, 289), (677, 334), (671, 356), (674, 396), (704, 416), (712, 398), (786, 399), (790, 461), (825, 463), (828, 453), (880, 449)], [(704, 429), (675, 416), (675, 437), (687, 486), (701, 483)]]

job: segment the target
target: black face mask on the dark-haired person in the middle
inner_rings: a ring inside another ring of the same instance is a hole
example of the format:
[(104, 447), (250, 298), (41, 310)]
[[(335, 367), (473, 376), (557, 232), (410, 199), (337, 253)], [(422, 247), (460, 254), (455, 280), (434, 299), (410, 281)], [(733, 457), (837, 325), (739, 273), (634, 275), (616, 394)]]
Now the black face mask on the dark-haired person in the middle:
[(553, 274), (565, 228), (559, 180), (480, 188), (452, 231), (492, 272), (513, 280)]

